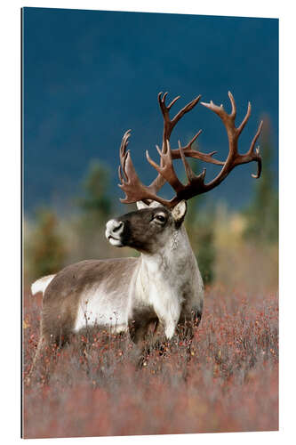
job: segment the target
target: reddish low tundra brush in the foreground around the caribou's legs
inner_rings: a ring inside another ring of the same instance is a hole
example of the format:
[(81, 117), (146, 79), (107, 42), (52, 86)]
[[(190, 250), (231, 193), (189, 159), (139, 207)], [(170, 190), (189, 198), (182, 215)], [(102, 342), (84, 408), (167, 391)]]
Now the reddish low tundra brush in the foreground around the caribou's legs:
[[(25, 296), (24, 376), (41, 306)], [(176, 338), (165, 355), (154, 351), (137, 369), (127, 336), (99, 332), (76, 336), (46, 360), (24, 390), (26, 438), (278, 429), (278, 308), (272, 293), (208, 289), (189, 361)]]

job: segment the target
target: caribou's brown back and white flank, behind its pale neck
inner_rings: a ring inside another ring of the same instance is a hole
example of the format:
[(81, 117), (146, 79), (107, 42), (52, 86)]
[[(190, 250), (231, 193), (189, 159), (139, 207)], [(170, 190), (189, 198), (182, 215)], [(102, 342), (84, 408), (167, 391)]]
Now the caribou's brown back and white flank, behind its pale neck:
[(44, 291), (42, 334), (67, 341), (85, 326), (127, 327), (127, 300), (138, 258), (86, 260), (69, 265)]

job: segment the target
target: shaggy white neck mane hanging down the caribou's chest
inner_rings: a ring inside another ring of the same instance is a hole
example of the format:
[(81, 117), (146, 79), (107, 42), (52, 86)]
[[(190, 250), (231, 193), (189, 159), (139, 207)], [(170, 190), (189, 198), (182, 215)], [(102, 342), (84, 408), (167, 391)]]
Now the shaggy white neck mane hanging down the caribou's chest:
[(138, 301), (153, 307), (164, 322), (168, 338), (180, 319), (183, 303), (195, 295), (197, 271), (196, 258), (183, 227), (157, 254), (140, 256), (136, 279)]

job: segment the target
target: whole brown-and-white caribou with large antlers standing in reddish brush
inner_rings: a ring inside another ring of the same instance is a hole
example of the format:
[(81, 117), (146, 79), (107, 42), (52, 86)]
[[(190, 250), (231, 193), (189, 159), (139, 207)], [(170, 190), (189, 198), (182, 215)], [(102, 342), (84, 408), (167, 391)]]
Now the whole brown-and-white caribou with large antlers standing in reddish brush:
[[(203, 153), (196, 150), (194, 142), (201, 130), (188, 142), (171, 149), (170, 137), (174, 126), (188, 111), (196, 107), (201, 96), (190, 101), (173, 117), (172, 105), (176, 97), (166, 104), (167, 93), (158, 94), (159, 106), (164, 118), (162, 148), (157, 164), (146, 151), (148, 163), (157, 175), (150, 185), (144, 185), (132, 164), (127, 150), (131, 130), (122, 139), (119, 151), (119, 187), (124, 190), (123, 203), (137, 203), (138, 210), (108, 221), (106, 237), (115, 247), (132, 247), (139, 257), (108, 260), (86, 260), (71, 264), (56, 274), (38, 279), (33, 283), (32, 294), (43, 293), (43, 309), (40, 339), (36, 359), (46, 346), (67, 344), (72, 334), (87, 325), (107, 328), (112, 333), (128, 332), (134, 344), (141, 344), (153, 326), (153, 336), (159, 330), (167, 340), (179, 333), (189, 340), (202, 317), (204, 284), (196, 255), (193, 253), (183, 221), (187, 201), (217, 187), (236, 166), (252, 161), (261, 173), (259, 147), (255, 144), (260, 136), (262, 122), (254, 135), (250, 148), (244, 154), (238, 152), (238, 138), (251, 114), (249, 102), (242, 123), (236, 127), (236, 102), (228, 92), (231, 112), (212, 101), (200, 102), (220, 117), (228, 134), (228, 157), (221, 161), (214, 158), (217, 152)], [(183, 184), (173, 167), (174, 159), (181, 159), (188, 182)], [(220, 172), (210, 182), (205, 182), (205, 169), (194, 174), (187, 158), (196, 158), (220, 166)], [(158, 191), (168, 182), (175, 195), (167, 200)], [(149, 330), (150, 329), (150, 330)], [(34, 366), (34, 364), (33, 364)], [(33, 367), (32, 367), (33, 368)]]

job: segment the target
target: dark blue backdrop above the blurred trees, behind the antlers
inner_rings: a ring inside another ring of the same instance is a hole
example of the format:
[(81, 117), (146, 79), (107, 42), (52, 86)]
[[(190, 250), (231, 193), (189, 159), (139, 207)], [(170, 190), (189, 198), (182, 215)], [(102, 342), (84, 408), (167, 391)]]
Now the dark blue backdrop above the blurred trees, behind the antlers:
[[(178, 110), (197, 94), (228, 109), (228, 90), (238, 108), (252, 116), (241, 137), (248, 149), (262, 115), (270, 117), (277, 171), (278, 21), (139, 12), (25, 8), (23, 12), (24, 195), (25, 210), (62, 206), (79, 191), (92, 159), (100, 158), (114, 176), (118, 147), (132, 128), (132, 158), (144, 182), (155, 172), (144, 150), (157, 160), (163, 120), (157, 93), (181, 95)], [(172, 134), (188, 142), (202, 128), (201, 150), (228, 142), (219, 117), (197, 105)], [(217, 156), (218, 157), (218, 156)], [(252, 164), (236, 168), (209, 193), (230, 206), (251, 196)], [(216, 170), (208, 168), (211, 178)], [(277, 178), (277, 173), (276, 173)]]

